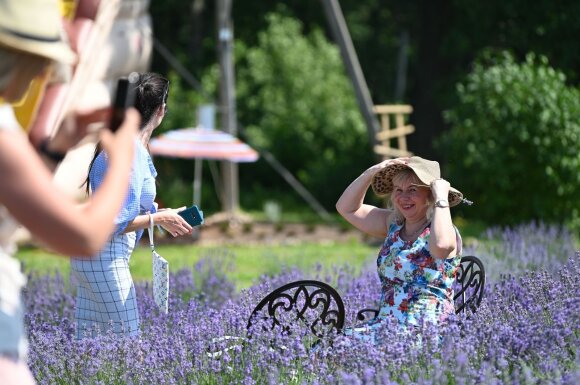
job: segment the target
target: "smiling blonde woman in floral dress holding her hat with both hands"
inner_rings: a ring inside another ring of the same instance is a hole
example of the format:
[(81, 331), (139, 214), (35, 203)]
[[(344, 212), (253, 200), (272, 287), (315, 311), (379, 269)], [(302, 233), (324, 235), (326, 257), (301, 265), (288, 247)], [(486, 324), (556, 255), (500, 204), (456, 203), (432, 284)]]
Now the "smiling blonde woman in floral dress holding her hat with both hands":
[[(390, 197), (389, 208), (363, 203), (369, 185)], [(461, 236), (449, 208), (462, 198), (441, 179), (439, 163), (418, 156), (383, 161), (346, 188), (336, 203), (338, 212), (359, 230), (385, 238), (377, 258), (379, 313), (347, 334), (377, 342), (381, 321), (396, 320), (408, 331), (426, 321), (439, 325), (454, 313)]]

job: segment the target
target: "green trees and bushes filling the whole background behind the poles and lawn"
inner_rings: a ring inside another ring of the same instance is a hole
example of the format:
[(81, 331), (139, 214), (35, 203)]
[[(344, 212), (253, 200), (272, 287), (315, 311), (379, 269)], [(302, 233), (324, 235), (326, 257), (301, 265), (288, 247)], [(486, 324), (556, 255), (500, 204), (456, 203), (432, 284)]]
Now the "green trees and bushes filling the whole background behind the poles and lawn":
[[(476, 201), (462, 216), (578, 228), (580, 20), (573, 15), (580, 3), (340, 5), (374, 103), (413, 105), (417, 131), (410, 149), (439, 160), (444, 174)], [(215, 2), (152, 2), (151, 14), (156, 38), (201, 84), (184, 84), (154, 57), (153, 70), (170, 74), (173, 84), (163, 129), (195, 125), (196, 106), (217, 99)], [(240, 136), (270, 151), (332, 210), (375, 157), (322, 4), (248, 0), (233, 2), (232, 16)], [(162, 200), (187, 200), (192, 162), (156, 164)], [(204, 174), (211, 186), (208, 165)], [(283, 202), (285, 211), (305, 206), (263, 158), (241, 165), (240, 178), (244, 209), (260, 210), (266, 198)], [(219, 210), (215, 192), (204, 188), (203, 194), (204, 208)]]

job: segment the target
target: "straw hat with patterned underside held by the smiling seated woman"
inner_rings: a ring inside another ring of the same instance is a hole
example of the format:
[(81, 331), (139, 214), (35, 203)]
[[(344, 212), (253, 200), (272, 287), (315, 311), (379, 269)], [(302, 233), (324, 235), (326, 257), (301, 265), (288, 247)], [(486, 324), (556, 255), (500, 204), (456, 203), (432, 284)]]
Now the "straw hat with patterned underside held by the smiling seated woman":
[[(371, 186), (375, 194), (383, 196), (393, 192), (393, 177), (397, 172), (406, 168), (413, 170), (417, 178), (426, 186), (430, 186), (435, 179), (441, 178), (438, 162), (423, 159), (419, 156), (412, 156), (407, 164), (391, 164), (373, 176)], [(449, 201), (449, 206), (456, 206), (463, 201), (463, 194), (459, 190), (450, 187), (447, 200)]]

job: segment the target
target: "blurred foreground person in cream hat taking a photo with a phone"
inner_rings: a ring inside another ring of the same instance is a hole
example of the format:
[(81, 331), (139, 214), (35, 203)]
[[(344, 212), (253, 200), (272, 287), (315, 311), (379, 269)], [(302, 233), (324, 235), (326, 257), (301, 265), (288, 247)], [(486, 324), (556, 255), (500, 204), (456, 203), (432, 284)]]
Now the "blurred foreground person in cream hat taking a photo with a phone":
[[(26, 338), (20, 289), (25, 278), (12, 257), (18, 224), (63, 254), (92, 255), (113, 230), (127, 189), (137, 111), (129, 111), (117, 134), (101, 133), (109, 170), (101, 189), (78, 206), (52, 187), (51, 174), (14, 117), (32, 79), (52, 61), (73, 62), (74, 53), (60, 39), (56, 0), (0, 0), (0, 384), (32, 384), (25, 365)], [(61, 145), (64, 142), (61, 142)], [(48, 158), (55, 148), (44, 148)], [(60, 147), (60, 151), (68, 148)], [(52, 151), (50, 151), (52, 150)]]

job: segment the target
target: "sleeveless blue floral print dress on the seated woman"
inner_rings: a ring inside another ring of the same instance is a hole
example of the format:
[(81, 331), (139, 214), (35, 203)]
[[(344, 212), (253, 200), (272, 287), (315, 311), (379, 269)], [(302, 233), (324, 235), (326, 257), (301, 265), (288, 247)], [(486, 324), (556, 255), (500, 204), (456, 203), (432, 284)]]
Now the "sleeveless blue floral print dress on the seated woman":
[(431, 227), (428, 225), (414, 242), (401, 238), (402, 225), (392, 224), (379, 255), (377, 269), (381, 281), (379, 314), (362, 327), (347, 329), (354, 335), (376, 341), (374, 330), (394, 317), (404, 331), (424, 322), (444, 323), (455, 312), (453, 281), (461, 262), (461, 236), (457, 229), (457, 255), (437, 259), (429, 252)]

